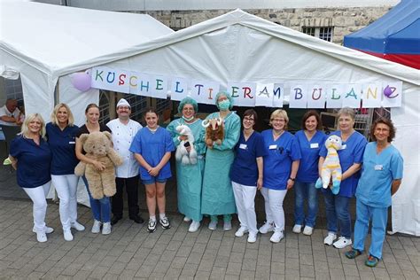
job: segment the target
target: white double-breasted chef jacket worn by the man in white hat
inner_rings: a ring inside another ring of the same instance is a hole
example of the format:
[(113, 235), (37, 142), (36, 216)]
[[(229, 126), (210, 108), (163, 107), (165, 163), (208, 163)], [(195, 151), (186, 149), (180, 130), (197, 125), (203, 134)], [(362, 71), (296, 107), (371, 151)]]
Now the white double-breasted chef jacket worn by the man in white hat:
[(134, 158), (134, 153), (129, 152), (131, 142), (142, 125), (137, 121), (129, 120), (123, 124), (120, 119), (109, 121), (106, 126), (113, 132), (113, 149), (122, 157), (124, 162), (116, 167), (117, 178), (131, 178), (138, 175), (139, 164)]

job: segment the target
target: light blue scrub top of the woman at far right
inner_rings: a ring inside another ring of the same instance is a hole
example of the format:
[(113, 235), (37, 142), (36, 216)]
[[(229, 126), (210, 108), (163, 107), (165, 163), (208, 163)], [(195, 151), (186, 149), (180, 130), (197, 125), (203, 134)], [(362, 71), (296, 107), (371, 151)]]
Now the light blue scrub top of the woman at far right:
[(368, 206), (391, 206), (391, 185), (393, 180), (402, 179), (402, 166), (401, 154), (393, 145), (377, 154), (377, 143), (367, 144), (356, 198)]

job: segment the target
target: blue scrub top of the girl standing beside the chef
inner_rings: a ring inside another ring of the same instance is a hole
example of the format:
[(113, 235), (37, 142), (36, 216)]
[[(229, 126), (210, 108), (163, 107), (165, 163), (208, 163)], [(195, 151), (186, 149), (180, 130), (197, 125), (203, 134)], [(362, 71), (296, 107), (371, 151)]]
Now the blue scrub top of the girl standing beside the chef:
[[(129, 147), (130, 152), (141, 154), (144, 160), (152, 167), (156, 167), (159, 164), (165, 153), (173, 152), (174, 150), (175, 146), (171, 135), (167, 129), (160, 127), (155, 132), (152, 132), (147, 127), (138, 130)], [(144, 167), (140, 167), (140, 176), (142, 180), (152, 179), (152, 175), (149, 175)], [(167, 164), (160, 169), (156, 178), (164, 180), (171, 176), (171, 166), (169, 161), (167, 161)]]

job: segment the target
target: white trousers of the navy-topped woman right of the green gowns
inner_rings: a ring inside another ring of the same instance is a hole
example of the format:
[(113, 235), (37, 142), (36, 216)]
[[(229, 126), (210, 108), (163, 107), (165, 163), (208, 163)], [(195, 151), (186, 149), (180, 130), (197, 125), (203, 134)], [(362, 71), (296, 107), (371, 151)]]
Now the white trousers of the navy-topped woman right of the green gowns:
[(257, 187), (232, 182), (232, 188), (241, 227), (248, 229), (249, 232), (257, 233), (257, 215), (255, 214)]

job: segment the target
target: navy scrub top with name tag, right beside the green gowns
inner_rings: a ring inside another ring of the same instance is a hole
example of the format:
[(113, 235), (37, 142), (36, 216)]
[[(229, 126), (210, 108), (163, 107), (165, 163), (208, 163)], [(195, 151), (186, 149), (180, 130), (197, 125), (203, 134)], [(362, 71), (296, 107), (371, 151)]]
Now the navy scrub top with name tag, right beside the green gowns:
[(245, 141), (244, 133), (241, 133), (235, 152), (235, 160), (230, 168), (230, 180), (245, 186), (256, 187), (258, 180), (256, 159), (267, 154), (261, 134), (253, 131), (253, 134)]

